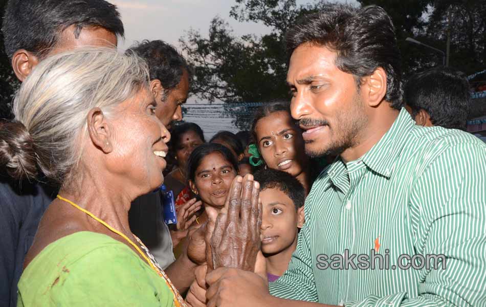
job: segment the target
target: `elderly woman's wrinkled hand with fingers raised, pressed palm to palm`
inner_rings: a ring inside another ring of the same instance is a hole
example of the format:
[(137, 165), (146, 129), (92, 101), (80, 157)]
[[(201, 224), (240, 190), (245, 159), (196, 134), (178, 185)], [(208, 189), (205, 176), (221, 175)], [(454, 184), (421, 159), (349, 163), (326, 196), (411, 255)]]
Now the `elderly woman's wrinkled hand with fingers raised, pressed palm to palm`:
[(209, 270), (225, 267), (253, 272), (256, 255), (260, 251), (259, 193), (260, 185), (253, 181), (252, 174), (245, 178), (237, 176), (219, 214), (214, 208), (206, 207)]

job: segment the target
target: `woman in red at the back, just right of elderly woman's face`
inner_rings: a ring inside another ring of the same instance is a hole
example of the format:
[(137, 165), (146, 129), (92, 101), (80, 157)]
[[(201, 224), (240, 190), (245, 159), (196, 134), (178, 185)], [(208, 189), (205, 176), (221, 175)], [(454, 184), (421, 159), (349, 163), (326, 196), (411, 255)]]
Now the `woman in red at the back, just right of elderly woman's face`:
[(204, 142), (203, 130), (195, 123), (175, 125), (171, 131), (169, 147), (175, 156), (177, 167), (165, 178), (165, 186), (174, 193), (176, 211), (191, 200), (186, 175), (187, 159), (192, 150)]

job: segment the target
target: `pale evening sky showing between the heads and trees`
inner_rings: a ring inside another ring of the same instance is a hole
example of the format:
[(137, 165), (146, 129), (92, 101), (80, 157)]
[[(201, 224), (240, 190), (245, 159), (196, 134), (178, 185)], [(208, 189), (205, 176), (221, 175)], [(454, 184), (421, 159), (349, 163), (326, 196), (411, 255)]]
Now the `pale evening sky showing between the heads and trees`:
[[(143, 39), (162, 39), (180, 50), (179, 38), (185, 36), (185, 31), (191, 28), (200, 30), (201, 34), (207, 37), (209, 23), (216, 15), (229, 23), (236, 36), (270, 32), (269, 28), (262, 24), (239, 23), (230, 17), (231, 7), (235, 5), (234, 0), (108, 0), (108, 2), (118, 6), (125, 27), (125, 40), (118, 43), (120, 51), (126, 50), (135, 41)], [(309, 2), (313, 0), (297, 0), (299, 5)], [(338, 2), (357, 3), (356, 0), (338, 0)], [(196, 97), (188, 99), (188, 104), (197, 102), (205, 103)], [(205, 119), (204, 114), (201, 114), (197, 117), (186, 116), (184, 120), (199, 124), (208, 140), (219, 130), (237, 131), (231, 118), (215, 121)]]

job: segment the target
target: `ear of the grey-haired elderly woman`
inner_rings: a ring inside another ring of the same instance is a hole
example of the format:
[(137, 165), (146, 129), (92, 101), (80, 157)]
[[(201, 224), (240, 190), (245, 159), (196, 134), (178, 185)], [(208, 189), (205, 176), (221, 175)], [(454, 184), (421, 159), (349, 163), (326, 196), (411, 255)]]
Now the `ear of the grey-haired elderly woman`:
[(112, 152), (113, 129), (106, 121), (106, 117), (99, 107), (92, 108), (88, 113), (87, 126), (93, 144), (100, 148), (104, 153)]

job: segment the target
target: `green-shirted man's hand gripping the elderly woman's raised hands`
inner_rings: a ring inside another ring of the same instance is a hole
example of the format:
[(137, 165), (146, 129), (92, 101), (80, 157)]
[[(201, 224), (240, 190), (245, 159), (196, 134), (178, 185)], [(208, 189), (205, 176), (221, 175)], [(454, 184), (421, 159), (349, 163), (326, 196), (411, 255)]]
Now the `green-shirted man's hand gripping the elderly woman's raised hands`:
[[(206, 291), (206, 306), (246, 307), (272, 305), (274, 297), (270, 295), (268, 290), (266, 271), (265, 258), (261, 252), (258, 253), (255, 273), (229, 268), (218, 268), (211, 271), (205, 278), (205, 282), (209, 284), (209, 289)], [(197, 290), (201, 291), (201, 289)], [(200, 296), (201, 294), (198, 294), (197, 297)], [(198, 303), (202, 303), (202, 301), (198, 299)], [(204, 305), (195, 304), (193, 306)]]

